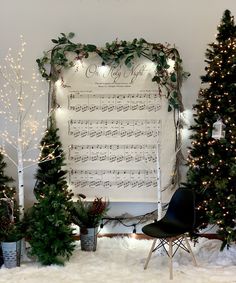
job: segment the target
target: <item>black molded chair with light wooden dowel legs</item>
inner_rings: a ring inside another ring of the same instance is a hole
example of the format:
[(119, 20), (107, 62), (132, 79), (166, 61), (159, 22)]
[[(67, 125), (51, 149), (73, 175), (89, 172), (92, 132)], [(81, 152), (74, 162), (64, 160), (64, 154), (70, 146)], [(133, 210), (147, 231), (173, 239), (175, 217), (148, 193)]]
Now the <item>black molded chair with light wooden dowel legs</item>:
[[(152, 253), (161, 247), (169, 256), (170, 279), (173, 279), (172, 259), (179, 248), (190, 253), (194, 265), (197, 266), (196, 259), (186, 237), (186, 233), (193, 230), (194, 224), (194, 193), (190, 189), (179, 188), (173, 194), (164, 217), (142, 228), (144, 234), (155, 238), (144, 269), (147, 269)], [(159, 243), (156, 245), (158, 239)], [(168, 250), (166, 245), (169, 246)]]

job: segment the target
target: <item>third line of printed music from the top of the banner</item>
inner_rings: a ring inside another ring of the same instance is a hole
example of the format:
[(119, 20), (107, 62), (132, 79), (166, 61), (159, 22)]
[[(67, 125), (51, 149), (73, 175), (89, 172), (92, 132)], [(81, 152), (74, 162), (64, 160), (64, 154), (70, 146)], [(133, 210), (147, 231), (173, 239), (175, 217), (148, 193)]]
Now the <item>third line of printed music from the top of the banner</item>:
[(73, 163), (156, 163), (157, 145), (70, 145), (68, 159)]

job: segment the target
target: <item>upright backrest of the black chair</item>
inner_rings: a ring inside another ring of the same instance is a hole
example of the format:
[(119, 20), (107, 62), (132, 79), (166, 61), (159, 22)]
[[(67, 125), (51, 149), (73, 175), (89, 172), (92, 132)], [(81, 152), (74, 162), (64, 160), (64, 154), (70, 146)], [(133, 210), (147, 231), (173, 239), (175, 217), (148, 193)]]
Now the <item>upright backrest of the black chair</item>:
[(195, 224), (194, 199), (193, 190), (177, 189), (169, 202), (167, 212), (162, 220), (190, 231)]

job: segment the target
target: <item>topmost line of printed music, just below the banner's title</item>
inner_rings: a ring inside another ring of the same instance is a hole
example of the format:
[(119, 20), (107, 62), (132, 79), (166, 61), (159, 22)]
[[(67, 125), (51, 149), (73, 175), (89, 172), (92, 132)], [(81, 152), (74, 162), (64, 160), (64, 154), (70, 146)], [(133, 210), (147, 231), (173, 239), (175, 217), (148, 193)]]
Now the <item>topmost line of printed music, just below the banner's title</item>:
[(75, 112), (157, 112), (161, 108), (160, 95), (140, 94), (92, 94), (71, 91), (68, 95), (68, 109)]

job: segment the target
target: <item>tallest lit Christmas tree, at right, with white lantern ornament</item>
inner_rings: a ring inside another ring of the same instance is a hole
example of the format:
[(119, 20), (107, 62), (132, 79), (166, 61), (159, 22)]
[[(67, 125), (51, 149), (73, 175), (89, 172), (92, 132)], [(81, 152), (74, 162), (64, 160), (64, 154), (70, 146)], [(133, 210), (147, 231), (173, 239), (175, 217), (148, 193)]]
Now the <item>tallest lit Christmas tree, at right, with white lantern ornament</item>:
[(193, 107), (185, 186), (196, 193), (198, 227), (215, 225), (223, 249), (236, 240), (236, 27), (229, 10), (217, 29), (206, 51), (205, 87)]

